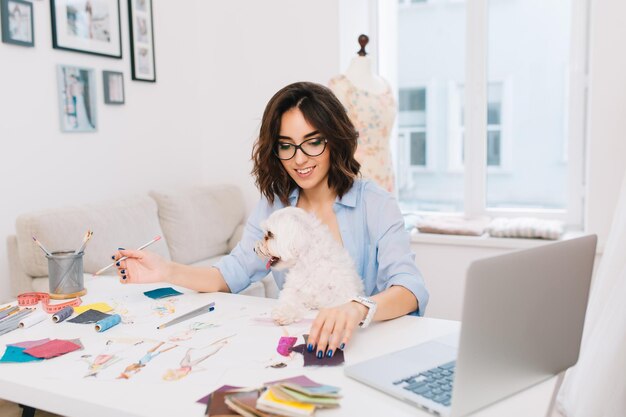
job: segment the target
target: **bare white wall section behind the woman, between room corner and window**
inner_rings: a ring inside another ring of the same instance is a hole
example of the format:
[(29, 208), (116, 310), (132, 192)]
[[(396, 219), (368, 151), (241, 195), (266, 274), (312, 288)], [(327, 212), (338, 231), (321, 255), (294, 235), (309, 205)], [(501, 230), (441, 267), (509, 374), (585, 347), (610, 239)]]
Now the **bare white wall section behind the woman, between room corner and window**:
[(202, 167), (258, 199), (252, 145), (268, 100), (296, 81), (326, 84), (339, 70), (336, 0), (197, 0), (198, 111)]

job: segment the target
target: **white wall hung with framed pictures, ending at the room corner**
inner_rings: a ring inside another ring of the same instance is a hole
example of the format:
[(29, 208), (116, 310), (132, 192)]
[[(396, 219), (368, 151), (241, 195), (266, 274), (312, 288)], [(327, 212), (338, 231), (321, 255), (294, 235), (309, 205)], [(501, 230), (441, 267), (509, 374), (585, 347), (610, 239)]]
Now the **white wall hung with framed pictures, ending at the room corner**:
[[(158, 82), (152, 84), (130, 81), (126, 2), (120, 3), (122, 60), (52, 49), (44, 1), (33, 2), (34, 48), (0, 44), (0, 300), (9, 294), (5, 239), (18, 214), (201, 179), (195, 79), (185, 76), (196, 52), (189, 10), (155, 2)], [(97, 132), (61, 133), (58, 64), (96, 70)], [(104, 105), (105, 69), (124, 72), (125, 105)]]

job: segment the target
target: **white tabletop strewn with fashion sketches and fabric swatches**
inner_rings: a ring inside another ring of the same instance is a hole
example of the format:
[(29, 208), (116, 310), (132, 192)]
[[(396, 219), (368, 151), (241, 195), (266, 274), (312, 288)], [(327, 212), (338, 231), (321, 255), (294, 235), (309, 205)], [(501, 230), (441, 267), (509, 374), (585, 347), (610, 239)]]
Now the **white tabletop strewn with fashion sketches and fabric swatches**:
[[(83, 298), (84, 304), (107, 301), (108, 297), (141, 294), (143, 291), (163, 285), (120, 285), (113, 277), (101, 277), (87, 280), (86, 286), (89, 292)], [(197, 294), (189, 291), (185, 291), (185, 295), (180, 297), (192, 300), (198, 306), (215, 301), (217, 309), (245, 308), (246, 312), (254, 313), (270, 311), (276, 302), (273, 299), (258, 297)], [(171, 317), (163, 321), (169, 318)], [(456, 332), (459, 326), (460, 323), (454, 321), (417, 317), (402, 317), (385, 323), (375, 323), (367, 329), (358, 331), (353, 337), (345, 351), (346, 364)], [(302, 328), (291, 326), (288, 329), (294, 332), (292, 335), (302, 331)], [(119, 325), (105, 333), (96, 333), (93, 325), (53, 324), (50, 320), (29, 329), (19, 329), (0, 336), (0, 352), (7, 343), (23, 340), (46, 337), (93, 340), (94, 337), (101, 337), (104, 341), (129, 332), (132, 333), (132, 325)], [(234, 347), (240, 350), (239, 353), (247, 346), (244, 349), (246, 360), (243, 361), (245, 362), (243, 365), (237, 359), (241, 356), (235, 355), (234, 352), (230, 355), (227, 353), (227, 349), (230, 348), (227, 346), (201, 364), (204, 370), (194, 372), (187, 378), (175, 382), (163, 380), (145, 382), (145, 379), (140, 381), (133, 378), (130, 380), (98, 380), (82, 377), (68, 379), (64, 375), (59, 375), (63, 361), (75, 363), (80, 360), (80, 356), (85, 351), (72, 352), (38, 363), (0, 363), (0, 398), (64, 416), (201, 416), (204, 415), (205, 407), (196, 403), (196, 400), (221, 385), (260, 385), (266, 381), (305, 374), (317, 382), (342, 388), (341, 392), (344, 397), (341, 400), (341, 407), (335, 410), (320, 410), (317, 413), (319, 416), (430, 416), (426, 412), (345, 377), (342, 366), (305, 368), (302, 366), (301, 359), (298, 358), (289, 362), (286, 368), (266, 368), (265, 359), (272, 356), (280, 358), (276, 353), (276, 345), (278, 338), (283, 334), (282, 328), (271, 325), (239, 329), (233, 341), (239, 339), (238, 347)], [(176, 354), (181, 356), (182, 352), (179, 350)], [(161, 356), (168, 354), (174, 355), (174, 351)], [(118, 368), (125, 367), (127, 362), (118, 364)], [(152, 366), (151, 363), (149, 365)], [(553, 378), (536, 385), (476, 415), (543, 417), (548, 410), (555, 380), (556, 378)]]

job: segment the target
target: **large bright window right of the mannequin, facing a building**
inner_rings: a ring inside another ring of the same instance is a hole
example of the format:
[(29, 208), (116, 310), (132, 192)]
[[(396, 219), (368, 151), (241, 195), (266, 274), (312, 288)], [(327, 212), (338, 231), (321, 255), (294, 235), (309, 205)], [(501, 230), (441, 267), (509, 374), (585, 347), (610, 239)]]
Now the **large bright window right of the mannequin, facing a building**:
[(586, 1), (379, 6), (395, 8), (381, 67), (398, 74), (403, 210), (582, 225)]

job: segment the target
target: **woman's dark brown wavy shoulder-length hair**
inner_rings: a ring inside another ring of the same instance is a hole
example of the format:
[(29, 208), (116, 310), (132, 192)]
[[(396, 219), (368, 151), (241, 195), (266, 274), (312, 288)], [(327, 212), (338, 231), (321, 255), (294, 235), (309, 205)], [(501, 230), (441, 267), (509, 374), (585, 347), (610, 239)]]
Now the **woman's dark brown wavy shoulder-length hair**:
[(259, 137), (252, 150), (252, 175), (256, 186), (270, 203), (278, 197), (285, 205), (289, 203), (291, 191), (298, 186), (274, 154), (282, 116), (293, 108), (298, 108), (307, 123), (328, 140), (324, 151), (330, 152), (328, 186), (342, 197), (352, 188), (361, 168), (354, 159), (358, 133), (333, 92), (310, 82), (290, 84), (274, 94), (267, 103)]

